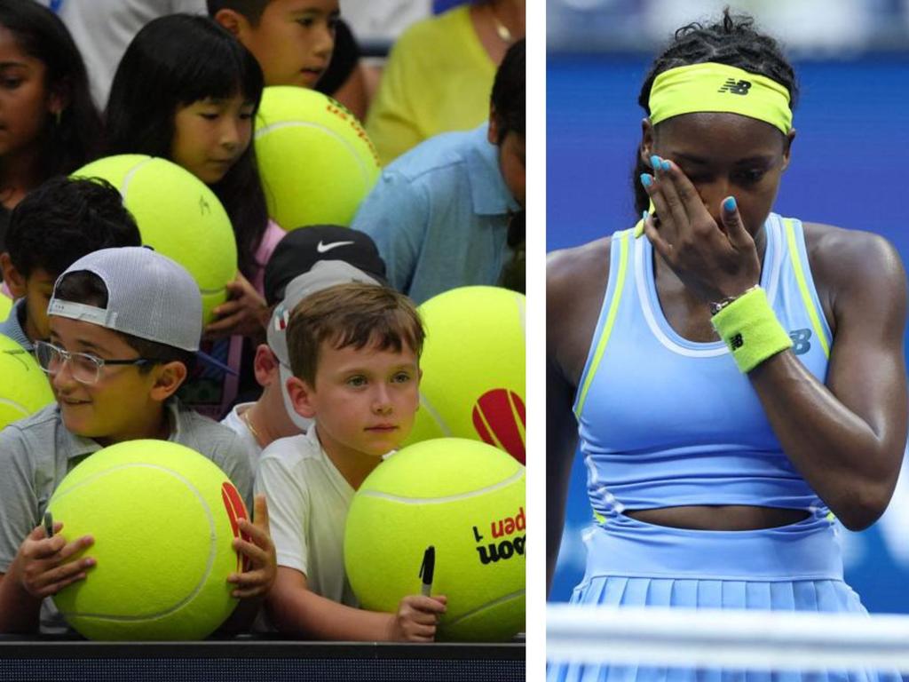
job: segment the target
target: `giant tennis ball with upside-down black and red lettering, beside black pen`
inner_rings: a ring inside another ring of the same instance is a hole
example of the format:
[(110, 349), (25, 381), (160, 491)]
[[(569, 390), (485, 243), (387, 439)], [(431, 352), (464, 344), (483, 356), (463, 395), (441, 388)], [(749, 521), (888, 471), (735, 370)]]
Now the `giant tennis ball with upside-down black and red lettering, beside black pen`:
[(440, 438), (375, 468), (347, 514), (345, 568), (360, 605), (395, 612), (420, 594), (448, 597), (436, 638), (499, 641), (524, 630), (524, 466), (493, 446)]

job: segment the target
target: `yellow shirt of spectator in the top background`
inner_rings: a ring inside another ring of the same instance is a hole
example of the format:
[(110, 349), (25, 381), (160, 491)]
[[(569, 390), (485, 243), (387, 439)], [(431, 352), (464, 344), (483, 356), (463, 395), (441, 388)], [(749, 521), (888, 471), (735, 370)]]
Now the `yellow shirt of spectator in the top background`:
[(427, 137), (470, 130), (488, 119), (495, 68), (469, 5), (410, 26), (388, 55), (366, 117), (382, 163)]

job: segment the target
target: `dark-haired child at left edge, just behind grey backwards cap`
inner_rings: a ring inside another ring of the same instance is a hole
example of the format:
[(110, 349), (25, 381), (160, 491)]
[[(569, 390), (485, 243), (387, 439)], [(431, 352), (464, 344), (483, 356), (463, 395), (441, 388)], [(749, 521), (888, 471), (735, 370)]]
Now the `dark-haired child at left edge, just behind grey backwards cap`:
[(0, 334), (25, 350), (50, 334), (47, 301), (56, 278), (98, 249), (142, 244), (123, 198), (105, 180), (55, 177), (15, 207), (0, 253), (5, 286), (18, 299)]

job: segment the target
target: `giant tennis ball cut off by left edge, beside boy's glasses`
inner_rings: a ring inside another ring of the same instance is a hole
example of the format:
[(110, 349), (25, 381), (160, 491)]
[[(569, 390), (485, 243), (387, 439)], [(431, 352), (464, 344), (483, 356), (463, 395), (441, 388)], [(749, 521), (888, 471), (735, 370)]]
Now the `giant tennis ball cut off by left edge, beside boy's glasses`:
[(0, 334), (0, 428), (53, 402), (54, 392), (35, 357)]

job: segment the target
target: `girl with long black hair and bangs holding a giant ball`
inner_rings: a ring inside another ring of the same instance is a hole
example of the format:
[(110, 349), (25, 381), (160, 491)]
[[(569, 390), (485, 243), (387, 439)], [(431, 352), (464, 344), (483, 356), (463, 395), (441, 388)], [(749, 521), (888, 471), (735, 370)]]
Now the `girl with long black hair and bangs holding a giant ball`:
[[(246, 364), (240, 336), (264, 336), (265, 263), (285, 235), (268, 218), (251, 144), (262, 88), (255, 57), (214, 21), (168, 15), (145, 25), (126, 48), (106, 109), (108, 154), (162, 156), (184, 166), (211, 187), (230, 216), (240, 275), (205, 333), (235, 336), (205, 351), (235, 370)], [(219, 373), (194, 376), (184, 395), (220, 419), (239, 389), (236, 376)]]

